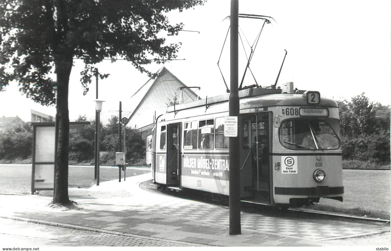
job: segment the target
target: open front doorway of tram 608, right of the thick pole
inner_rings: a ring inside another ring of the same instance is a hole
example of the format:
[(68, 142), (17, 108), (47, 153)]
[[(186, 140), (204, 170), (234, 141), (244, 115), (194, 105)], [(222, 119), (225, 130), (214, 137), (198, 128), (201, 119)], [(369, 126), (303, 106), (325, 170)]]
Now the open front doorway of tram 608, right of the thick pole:
[(271, 204), (271, 128), (269, 112), (241, 116), (241, 173), (246, 200)]

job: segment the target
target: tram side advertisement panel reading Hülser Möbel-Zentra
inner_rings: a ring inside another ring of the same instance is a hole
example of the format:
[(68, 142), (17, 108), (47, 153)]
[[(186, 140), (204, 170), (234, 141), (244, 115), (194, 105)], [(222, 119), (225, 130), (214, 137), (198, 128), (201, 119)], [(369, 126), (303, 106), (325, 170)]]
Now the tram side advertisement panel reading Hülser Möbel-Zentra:
[(183, 176), (229, 179), (230, 160), (228, 155), (184, 154), (182, 163)]

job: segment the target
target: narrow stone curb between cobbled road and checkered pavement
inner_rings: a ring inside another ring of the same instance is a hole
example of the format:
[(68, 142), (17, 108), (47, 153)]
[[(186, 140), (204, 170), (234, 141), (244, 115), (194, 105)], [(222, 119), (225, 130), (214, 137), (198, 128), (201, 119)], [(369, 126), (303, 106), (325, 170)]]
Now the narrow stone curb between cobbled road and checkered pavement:
[(79, 226), (79, 225), (67, 224), (67, 223), (42, 221), (42, 220), (29, 219), (29, 218), (23, 218), (23, 217), (18, 217), (18, 216), (0, 215), (0, 218), (14, 220), (14, 221), (24, 221), (24, 222), (29, 222), (29, 223), (41, 224), (41, 225), (45, 225), (45, 226), (57, 227), (57, 228), (67, 228), (67, 229), (88, 231), (88, 232), (93, 232), (93, 233), (105, 233), (105, 234), (109, 234), (109, 235), (118, 235), (118, 236), (134, 237), (134, 238), (147, 239), (147, 240), (153, 240), (153, 241), (169, 242), (169, 243), (179, 244), (179, 245), (183, 245), (183, 246), (217, 247), (214, 245), (198, 244), (198, 243), (192, 243), (192, 242), (181, 242), (178, 240), (167, 240), (167, 239), (163, 239), (163, 238), (156, 238), (156, 237), (150, 237), (150, 236), (144, 236), (144, 235), (135, 235), (135, 234), (131, 234), (131, 233), (123, 233), (123, 232), (118, 232), (118, 231), (113, 231), (113, 230), (104, 230), (104, 229), (99, 229), (99, 228), (91, 228), (91, 227)]

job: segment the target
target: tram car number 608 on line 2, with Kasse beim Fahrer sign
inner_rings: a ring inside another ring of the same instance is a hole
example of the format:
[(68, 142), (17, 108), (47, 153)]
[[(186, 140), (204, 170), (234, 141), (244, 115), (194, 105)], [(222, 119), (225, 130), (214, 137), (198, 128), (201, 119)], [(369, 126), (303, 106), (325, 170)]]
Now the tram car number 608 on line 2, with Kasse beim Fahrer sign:
[[(239, 91), (240, 196), (243, 201), (301, 206), (343, 201), (337, 102), (318, 91)], [(171, 190), (229, 195), (229, 93), (171, 106), (152, 129), (153, 181)]]

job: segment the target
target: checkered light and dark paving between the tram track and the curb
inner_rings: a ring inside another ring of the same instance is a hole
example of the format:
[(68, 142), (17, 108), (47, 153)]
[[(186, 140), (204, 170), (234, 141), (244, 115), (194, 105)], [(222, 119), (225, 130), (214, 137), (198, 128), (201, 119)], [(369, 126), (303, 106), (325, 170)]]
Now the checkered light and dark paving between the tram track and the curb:
[[(118, 193), (121, 195), (120, 197), (117, 197)], [(125, 196), (126, 194), (127, 196)], [(153, 199), (152, 197), (145, 198), (137, 194), (131, 195), (123, 190), (110, 193), (94, 192), (94, 196), (98, 198), (97, 201), (88, 202), (94, 204), (91, 207), (93, 209), (89, 209), (88, 203), (85, 203), (85, 210), (79, 212), (61, 212), (56, 216), (43, 214), (36, 216), (36, 218), (45, 221), (54, 220), (54, 222), (62, 220), (62, 222), (69, 224), (158, 238), (175, 238), (175, 240), (182, 241), (195, 238), (195, 243), (212, 245), (217, 245), (218, 241), (224, 238), (221, 233), (226, 232), (229, 225), (229, 208), (225, 206), (174, 196), (156, 195), (153, 196)], [(106, 203), (107, 199), (117, 205), (109, 205)], [(101, 210), (97, 206), (99, 203), (102, 203)], [(59, 220), (59, 218), (61, 219)], [(242, 212), (241, 224), (242, 232), (248, 229), (248, 231), (255, 231), (255, 233), (268, 234), (267, 240), (260, 238), (262, 235), (254, 235), (259, 238), (260, 246), (268, 246), (265, 241), (273, 241), (270, 243), (272, 246), (280, 245), (284, 242), (284, 238), (289, 240), (296, 238), (298, 241), (307, 240), (313, 244), (313, 240), (366, 235), (382, 231), (379, 226), (326, 219), (273, 216), (262, 212)], [(195, 230), (197, 227), (198, 230)], [(199, 231), (200, 227), (202, 231)], [(389, 228), (387, 229), (389, 230)], [(275, 238), (273, 239), (273, 237)], [(251, 238), (251, 235), (248, 238)], [(246, 243), (246, 241), (247, 239), (242, 240), (242, 243)], [(248, 243), (255, 244), (254, 240), (248, 241)]]

